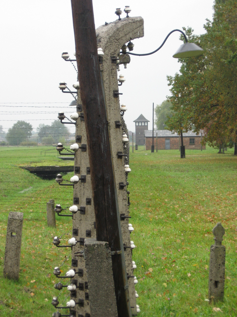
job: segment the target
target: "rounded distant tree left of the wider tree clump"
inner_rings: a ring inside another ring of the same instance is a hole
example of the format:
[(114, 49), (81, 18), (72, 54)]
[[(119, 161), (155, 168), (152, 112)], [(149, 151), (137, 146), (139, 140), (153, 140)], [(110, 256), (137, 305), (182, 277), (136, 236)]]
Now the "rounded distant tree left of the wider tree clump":
[(17, 121), (8, 129), (6, 139), (10, 145), (18, 145), (31, 136), (32, 125), (26, 121)]

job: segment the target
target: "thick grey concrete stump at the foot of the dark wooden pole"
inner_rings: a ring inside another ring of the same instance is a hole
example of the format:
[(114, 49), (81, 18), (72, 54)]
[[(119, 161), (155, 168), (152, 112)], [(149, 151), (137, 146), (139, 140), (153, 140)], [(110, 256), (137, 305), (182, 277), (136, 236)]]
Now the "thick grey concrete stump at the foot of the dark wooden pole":
[(112, 259), (108, 243), (85, 239), (84, 252), (91, 317), (117, 317)]

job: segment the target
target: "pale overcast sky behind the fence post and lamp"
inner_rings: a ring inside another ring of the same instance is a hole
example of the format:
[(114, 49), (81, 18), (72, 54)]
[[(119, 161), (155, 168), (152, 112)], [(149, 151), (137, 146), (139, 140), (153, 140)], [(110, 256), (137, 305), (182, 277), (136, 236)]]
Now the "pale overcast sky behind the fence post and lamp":
[[(124, 10), (125, 5), (132, 10), (130, 16), (144, 19), (144, 37), (133, 41), (134, 53), (155, 50), (173, 29), (190, 26), (203, 34), (205, 19), (212, 20), (213, 14), (213, 0), (94, 0), (95, 27), (116, 20), (116, 8)], [(58, 88), (65, 81), (73, 90), (76, 81), (75, 69), (61, 58), (64, 51), (73, 58), (75, 51), (70, 0), (1, 1), (0, 29), (0, 125), (5, 131), (17, 120), (30, 122), (36, 131), (40, 123), (56, 120), (58, 110), (66, 116), (74, 112), (68, 107), (73, 97)], [(131, 56), (127, 69), (120, 66), (119, 74), (126, 79), (119, 89), (120, 104), (128, 108), (124, 118), (129, 130), (135, 132), (133, 120), (141, 113), (152, 129), (152, 103), (161, 104), (169, 95), (166, 76), (179, 71), (172, 55), (181, 44), (174, 32), (154, 55)]]

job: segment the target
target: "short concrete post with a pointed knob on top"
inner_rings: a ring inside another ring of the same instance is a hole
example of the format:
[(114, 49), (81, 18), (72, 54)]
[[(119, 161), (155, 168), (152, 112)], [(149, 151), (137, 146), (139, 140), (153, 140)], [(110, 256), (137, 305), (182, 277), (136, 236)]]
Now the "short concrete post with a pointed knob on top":
[(226, 248), (222, 245), (222, 237), (225, 229), (218, 222), (212, 232), (215, 244), (211, 246), (210, 250), (208, 294), (209, 301), (216, 302), (224, 299)]

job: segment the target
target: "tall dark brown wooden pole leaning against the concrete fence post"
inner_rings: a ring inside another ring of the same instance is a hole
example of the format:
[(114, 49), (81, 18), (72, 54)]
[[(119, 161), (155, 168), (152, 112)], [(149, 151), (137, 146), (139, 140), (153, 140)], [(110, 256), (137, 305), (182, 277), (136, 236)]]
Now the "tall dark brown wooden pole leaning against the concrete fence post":
[[(96, 239), (109, 243), (111, 251), (123, 250), (119, 230), (118, 201), (103, 98), (92, 0), (71, 0), (88, 154), (93, 190)], [(112, 255), (114, 288), (119, 317), (131, 316), (125, 261)]]

